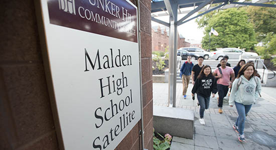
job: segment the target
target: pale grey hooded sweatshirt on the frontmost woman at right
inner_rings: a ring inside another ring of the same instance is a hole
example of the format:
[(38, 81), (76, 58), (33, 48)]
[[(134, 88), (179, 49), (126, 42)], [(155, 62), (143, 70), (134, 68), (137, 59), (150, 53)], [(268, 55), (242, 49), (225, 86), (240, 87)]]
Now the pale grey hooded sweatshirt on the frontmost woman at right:
[[(255, 76), (253, 76), (255, 77)], [(234, 101), (242, 103), (244, 105), (252, 104), (259, 97), (258, 91), (261, 91), (261, 83), (258, 77), (251, 77), (249, 80), (243, 75), (240, 76), (241, 82), (237, 90), (237, 84), (239, 79), (235, 79), (232, 85), (232, 91), (229, 97), (229, 105), (234, 105)], [(256, 90), (258, 89), (258, 91)]]

